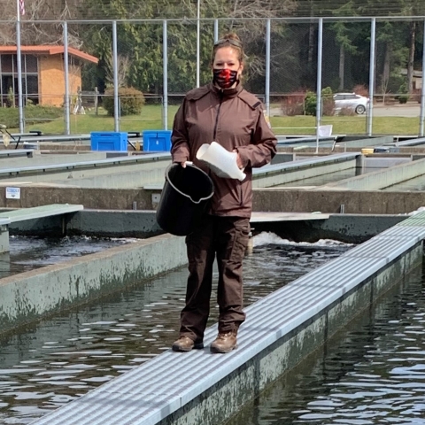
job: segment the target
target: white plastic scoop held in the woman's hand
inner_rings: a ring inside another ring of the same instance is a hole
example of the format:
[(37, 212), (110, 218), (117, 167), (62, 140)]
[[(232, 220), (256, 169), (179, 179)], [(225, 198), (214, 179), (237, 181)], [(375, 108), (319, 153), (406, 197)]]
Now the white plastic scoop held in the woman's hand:
[(241, 182), (246, 177), (237, 164), (236, 152), (229, 152), (219, 143), (205, 143), (197, 150), (197, 158), (204, 161), (219, 177), (238, 179)]

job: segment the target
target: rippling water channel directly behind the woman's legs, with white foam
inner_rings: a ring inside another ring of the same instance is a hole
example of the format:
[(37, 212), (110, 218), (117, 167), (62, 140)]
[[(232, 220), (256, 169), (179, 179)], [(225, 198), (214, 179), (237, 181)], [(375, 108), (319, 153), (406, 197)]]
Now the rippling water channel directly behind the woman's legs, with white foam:
[[(268, 234), (255, 242), (263, 245), (245, 260), (246, 305), (351, 248), (290, 244)], [(0, 337), (0, 423), (33, 421), (168, 350), (186, 278), (182, 268)], [(213, 305), (210, 325), (217, 315)]]

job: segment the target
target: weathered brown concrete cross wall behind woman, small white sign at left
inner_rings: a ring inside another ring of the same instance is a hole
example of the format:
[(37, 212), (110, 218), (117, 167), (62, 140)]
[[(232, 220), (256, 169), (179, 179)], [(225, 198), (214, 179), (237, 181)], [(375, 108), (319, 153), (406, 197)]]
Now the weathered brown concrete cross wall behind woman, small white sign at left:
[[(0, 208), (27, 208), (47, 204), (81, 204), (88, 209), (152, 210), (158, 203), (152, 195), (161, 190), (81, 189), (5, 183), (20, 186), (20, 199), (6, 199), (0, 188)], [(253, 191), (253, 211), (288, 213), (405, 214), (425, 206), (423, 192), (382, 192), (380, 190), (297, 190), (260, 188)]]

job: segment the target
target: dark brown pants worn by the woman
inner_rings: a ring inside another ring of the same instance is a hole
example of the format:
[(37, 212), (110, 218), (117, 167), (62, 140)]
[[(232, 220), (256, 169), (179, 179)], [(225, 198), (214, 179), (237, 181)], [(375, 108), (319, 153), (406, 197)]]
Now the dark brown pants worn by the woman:
[(219, 267), (219, 332), (237, 330), (245, 320), (242, 261), (249, 234), (249, 219), (207, 215), (199, 228), (186, 237), (189, 279), (186, 306), (181, 314), (181, 336), (189, 336), (194, 341), (204, 338), (210, 313), (215, 255)]

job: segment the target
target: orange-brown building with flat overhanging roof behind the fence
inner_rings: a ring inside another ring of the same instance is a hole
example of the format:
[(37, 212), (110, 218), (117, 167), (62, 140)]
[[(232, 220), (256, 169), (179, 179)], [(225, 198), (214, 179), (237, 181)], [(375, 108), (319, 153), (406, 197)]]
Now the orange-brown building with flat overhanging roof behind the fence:
[[(61, 106), (65, 95), (64, 46), (21, 46), (23, 103)], [(69, 94), (81, 88), (81, 67), (98, 59), (68, 48)], [(2, 106), (18, 104), (17, 47), (0, 46), (0, 99)]]

